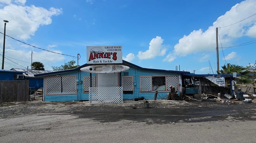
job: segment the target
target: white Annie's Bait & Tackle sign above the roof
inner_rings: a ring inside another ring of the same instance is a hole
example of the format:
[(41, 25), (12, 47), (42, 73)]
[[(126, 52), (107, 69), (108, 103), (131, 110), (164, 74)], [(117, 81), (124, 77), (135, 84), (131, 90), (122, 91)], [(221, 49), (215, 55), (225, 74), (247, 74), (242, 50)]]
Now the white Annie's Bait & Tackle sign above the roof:
[(123, 63), (122, 46), (86, 46), (87, 64)]

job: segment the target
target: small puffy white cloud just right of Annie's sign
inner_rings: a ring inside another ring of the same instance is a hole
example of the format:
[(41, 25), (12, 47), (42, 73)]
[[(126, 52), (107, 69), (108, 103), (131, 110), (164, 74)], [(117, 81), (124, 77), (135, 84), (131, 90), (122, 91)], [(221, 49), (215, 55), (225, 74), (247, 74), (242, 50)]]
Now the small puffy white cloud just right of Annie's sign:
[(159, 36), (153, 38), (149, 43), (149, 49), (145, 52), (139, 51), (137, 57), (139, 59), (152, 59), (156, 56), (164, 56), (166, 47), (162, 45), (163, 39)]

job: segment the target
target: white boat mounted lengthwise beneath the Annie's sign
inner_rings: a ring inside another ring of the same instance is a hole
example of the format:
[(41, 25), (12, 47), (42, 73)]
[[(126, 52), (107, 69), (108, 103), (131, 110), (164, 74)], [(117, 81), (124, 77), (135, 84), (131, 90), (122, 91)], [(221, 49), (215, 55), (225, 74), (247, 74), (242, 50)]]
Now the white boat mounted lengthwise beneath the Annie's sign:
[(83, 67), (80, 70), (84, 72), (90, 72), (95, 74), (114, 74), (118, 72), (127, 71), (130, 69), (128, 66), (116, 65), (116, 64), (102, 64)]

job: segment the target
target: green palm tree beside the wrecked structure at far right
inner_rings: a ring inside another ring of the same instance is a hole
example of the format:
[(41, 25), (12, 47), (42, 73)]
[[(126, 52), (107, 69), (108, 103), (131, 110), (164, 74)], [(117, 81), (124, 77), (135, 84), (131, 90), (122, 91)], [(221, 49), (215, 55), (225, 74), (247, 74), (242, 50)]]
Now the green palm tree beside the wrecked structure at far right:
[(250, 71), (247, 70), (246, 67), (242, 66), (236, 66), (234, 64), (229, 65), (227, 64), (221, 67), (222, 69), (218, 72), (218, 74), (233, 74), (233, 72), (236, 72), (237, 74), (241, 75), (241, 79), (239, 79), (238, 83), (246, 84), (251, 83), (250, 80)]

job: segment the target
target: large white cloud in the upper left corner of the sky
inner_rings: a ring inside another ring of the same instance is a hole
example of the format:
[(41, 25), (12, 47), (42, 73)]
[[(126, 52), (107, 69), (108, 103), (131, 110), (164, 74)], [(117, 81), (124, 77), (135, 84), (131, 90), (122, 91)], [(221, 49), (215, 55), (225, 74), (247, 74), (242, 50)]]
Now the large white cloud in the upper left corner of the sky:
[(6, 25), (7, 35), (15, 35), (15, 38), (27, 40), (30, 39), (30, 35), (35, 34), (41, 25), (51, 24), (51, 17), (61, 14), (62, 10), (58, 8), (47, 10), (34, 5), (24, 6), (9, 3), (0, 9), (0, 13), (0, 19), (9, 21)]

